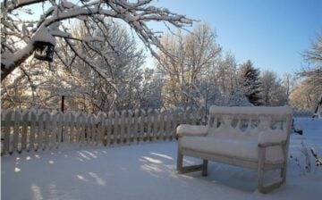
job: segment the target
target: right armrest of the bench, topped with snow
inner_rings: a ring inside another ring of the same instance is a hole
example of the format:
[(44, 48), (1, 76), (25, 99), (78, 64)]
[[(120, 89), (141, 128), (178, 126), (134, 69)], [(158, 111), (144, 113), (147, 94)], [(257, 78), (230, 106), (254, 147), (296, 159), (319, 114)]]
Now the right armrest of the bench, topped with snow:
[(258, 134), (258, 146), (283, 146), (286, 144), (287, 134), (282, 130), (266, 130)]

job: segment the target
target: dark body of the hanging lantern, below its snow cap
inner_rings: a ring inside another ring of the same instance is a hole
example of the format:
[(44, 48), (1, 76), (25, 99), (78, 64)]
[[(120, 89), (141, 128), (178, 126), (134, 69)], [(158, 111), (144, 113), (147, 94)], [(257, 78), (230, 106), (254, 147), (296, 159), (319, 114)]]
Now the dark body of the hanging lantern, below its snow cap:
[(53, 61), (55, 46), (49, 42), (36, 41), (35, 47), (35, 58), (41, 61)]

